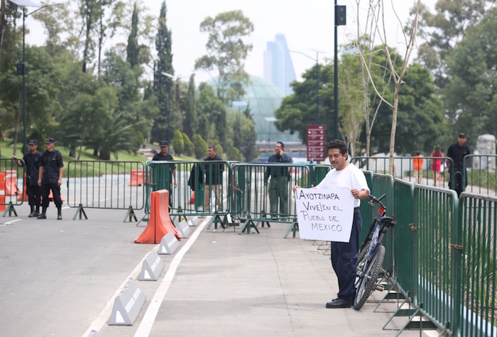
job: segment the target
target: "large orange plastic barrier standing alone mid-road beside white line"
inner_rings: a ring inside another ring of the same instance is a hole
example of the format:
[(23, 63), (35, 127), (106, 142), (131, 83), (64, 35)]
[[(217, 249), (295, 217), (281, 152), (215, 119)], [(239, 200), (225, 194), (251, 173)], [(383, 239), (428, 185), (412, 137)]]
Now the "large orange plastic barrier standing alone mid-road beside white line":
[(169, 217), (169, 192), (167, 189), (161, 189), (150, 194), (150, 219), (135, 243), (160, 243), (169, 232), (174, 233), (178, 240), (182, 238)]

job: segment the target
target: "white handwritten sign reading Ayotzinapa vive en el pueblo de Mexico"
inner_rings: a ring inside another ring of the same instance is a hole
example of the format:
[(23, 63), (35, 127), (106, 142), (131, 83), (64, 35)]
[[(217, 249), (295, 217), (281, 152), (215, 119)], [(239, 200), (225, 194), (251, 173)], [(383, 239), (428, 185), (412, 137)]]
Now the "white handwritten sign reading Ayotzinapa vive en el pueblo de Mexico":
[(354, 219), (350, 189), (297, 189), (295, 191), (300, 238), (349, 242)]

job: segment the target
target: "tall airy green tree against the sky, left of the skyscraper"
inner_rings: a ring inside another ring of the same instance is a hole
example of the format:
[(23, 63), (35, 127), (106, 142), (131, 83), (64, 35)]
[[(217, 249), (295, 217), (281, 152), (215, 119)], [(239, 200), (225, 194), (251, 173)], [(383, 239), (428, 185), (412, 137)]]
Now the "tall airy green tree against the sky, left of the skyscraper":
[(217, 96), (224, 104), (244, 96), (244, 84), (250, 80), (244, 61), (252, 50), (244, 39), (253, 32), (253, 23), (242, 11), (227, 11), (205, 18), (200, 31), (209, 35), (207, 55), (195, 61), (195, 69), (217, 71)]

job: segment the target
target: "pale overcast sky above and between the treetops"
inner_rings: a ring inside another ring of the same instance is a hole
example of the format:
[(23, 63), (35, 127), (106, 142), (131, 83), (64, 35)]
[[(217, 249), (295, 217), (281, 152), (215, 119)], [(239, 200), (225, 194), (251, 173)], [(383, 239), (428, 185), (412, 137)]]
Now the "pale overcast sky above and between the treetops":
[[(386, 16), (390, 17), (387, 29), (388, 44), (396, 46), (398, 52), (404, 55), (402, 26), (407, 22), (414, 0), (395, 1), (395, 5), (392, 5), (391, 1), (385, 2)], [(163, 0), (143, 0), (143, 4), (148, 6), (150, 13), (158, 16)], [(319, 54), (320, 63), (324, 57), (332, 58), (334, 55), (332, 0), (168, 0), (166, 5), (167, 24), (173, 33), (173, 67), (177, 77), (190, 76), (195, 59), (205, 54), (207, 35), (199, 30), (204, 18), (237, 9), (241, 9), (244, 15), (250, 18), (255, 28), (249, 38), (253, 50), (245, 64), (245, 70), (249, 74), (263, 77), (263, 53), (266, 43), (273, 41), (278, 33), (285, 34), (290, 50), (297, 50), (314, 59), (315, 50), (322, 51), (323, 53)], [(339, 0), (338, 5), (345, 5), (347, 11), (347, 25), (338, 28), (338, 43), (343, 44), (356, 37), (357, 5), (355, 0)], [(365, 6), (367, 8), (368, 1), (362, 0), (362, 9)], [(402, 23), (392, 18), (392, 6), (395, 6)], [(364, 13), (362, 15), (364, 16)], [(43, 30), (33, 29), (35, 23), (31, 17), (28, 17), (26, 24), (32, 32), (26, 36), (27, 43), (44, 40), (43, 36), (40, 36)], [(302, 72), (315, 65), (314, 60), (300, 54), (293, 54), (292, 60), (299, 80)], [(196, 73), (197, 83), (207, 79), (209, 74), (206, 72)]]

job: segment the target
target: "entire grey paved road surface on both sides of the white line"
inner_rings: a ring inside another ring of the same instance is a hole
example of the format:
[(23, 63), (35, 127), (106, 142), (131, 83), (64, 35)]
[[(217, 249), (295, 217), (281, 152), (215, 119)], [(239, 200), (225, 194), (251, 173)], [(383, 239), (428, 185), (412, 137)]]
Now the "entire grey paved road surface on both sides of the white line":
[[(260, 234), (207, 230), (201, 219), (165, 262), (158, 281), (137, 281), (146, 303), (133, 326), (109, 326), (114, 298), (157, 245), (133, 243), (144, 226), (126, 211), (48, 209), (47, 220), (0, 218), (0, 336), (395, 336), (382, 330), (396, 304), (325, 309), (337, 293), (329, 256), (284, 239), (288, 224)], [(138, 211), (138, 216), (143, 212)], [(373, 294), (380, 299), (382, 293)], [(388, 328), (402, 326), (394, 319)], [(437, 333), (432, 333), (437, 336)], [(402, 336), (420, 336), (405, 331)], [(424, 336), (427, 336), (424, 334)], [(431, 335), (430, 335), (431, 336)]]

